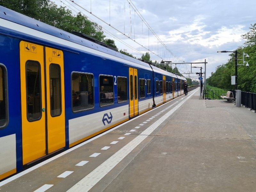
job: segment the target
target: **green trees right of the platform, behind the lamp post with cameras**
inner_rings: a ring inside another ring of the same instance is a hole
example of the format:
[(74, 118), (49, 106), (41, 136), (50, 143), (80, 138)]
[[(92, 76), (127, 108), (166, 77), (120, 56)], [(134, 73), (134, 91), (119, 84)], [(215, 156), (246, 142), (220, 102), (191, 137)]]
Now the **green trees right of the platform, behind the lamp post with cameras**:
[[(246, 39), (245, 47), (238, 47), (238, 66), (237, 66), (237, 89), (244, 92), (256, 93), (256, 24), (252, 25), (250, 32), (243, 35)], [(243, 64), (243, 52), (250, 57), (244, 57), (249, 63), (249, 67)], [(222, 53), (225, 54), (225, 53)], [(220, 89), (235, 89), (235, 85), (231, 85), (231, 76), (235, 76), (235, 53), (231, 53), (227, 63), (219, 65), (216, 71), (206, 79), (206, 82)]]

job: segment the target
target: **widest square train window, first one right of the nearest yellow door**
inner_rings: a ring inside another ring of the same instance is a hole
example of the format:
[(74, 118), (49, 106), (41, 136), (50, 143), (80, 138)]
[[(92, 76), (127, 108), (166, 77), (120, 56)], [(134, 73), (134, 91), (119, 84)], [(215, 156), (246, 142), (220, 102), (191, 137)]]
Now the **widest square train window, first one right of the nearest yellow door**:
[(94, 107), (93, 74), (72, 73), (72, 110), (82, 111)]

